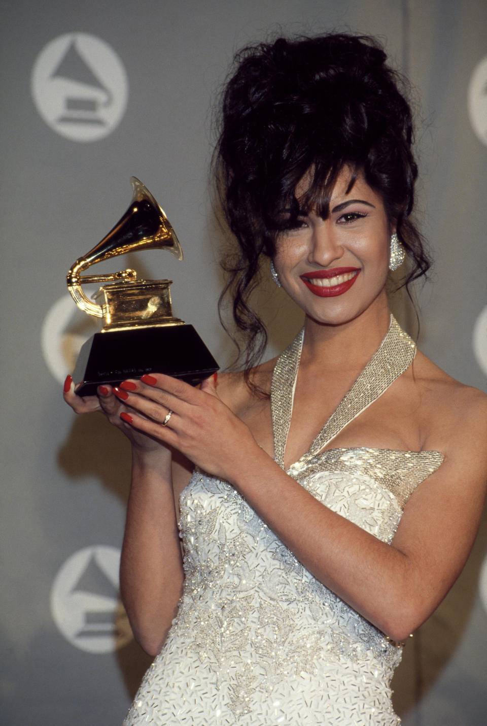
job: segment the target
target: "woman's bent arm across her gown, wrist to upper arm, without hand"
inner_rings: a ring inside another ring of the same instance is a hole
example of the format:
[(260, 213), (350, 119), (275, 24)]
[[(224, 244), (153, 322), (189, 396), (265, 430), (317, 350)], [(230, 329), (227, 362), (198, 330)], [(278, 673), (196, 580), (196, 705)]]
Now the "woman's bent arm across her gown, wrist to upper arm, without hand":
[(462, 459), (453, 463), (447, 454), (418, 487), (392, 546), (324, 507), (284, 472), (273, 473), (257, 452), (255, 469), (242, 470), (234, 486), (320, 582), (392, 640), (404, 640), (443, 600), (475, 539), (487, 462)]

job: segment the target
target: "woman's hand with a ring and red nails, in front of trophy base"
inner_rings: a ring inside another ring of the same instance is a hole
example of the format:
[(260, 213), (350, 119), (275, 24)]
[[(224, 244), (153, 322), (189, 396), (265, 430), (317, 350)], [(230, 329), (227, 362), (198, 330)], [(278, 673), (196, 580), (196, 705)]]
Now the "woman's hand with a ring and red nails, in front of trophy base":
[(193, 388), (154, 373), (123, 381), (113, 392), (130, 407), (120, 415), (126, 423), (178, 449), (213, 476), (232, 482), (258, 448), (247, 425), (218, 397), (213, 376)]

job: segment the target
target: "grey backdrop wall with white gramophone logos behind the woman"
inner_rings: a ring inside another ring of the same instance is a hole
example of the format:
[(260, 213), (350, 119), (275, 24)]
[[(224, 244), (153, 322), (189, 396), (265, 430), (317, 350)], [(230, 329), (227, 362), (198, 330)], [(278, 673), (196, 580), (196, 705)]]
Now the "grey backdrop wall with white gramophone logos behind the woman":
[[(62, 381), (97, 330), (67, 293), (141, 179), (184, 250), (92, 268), (169, 278), (174, 314), (222, 367), (219, 249), (209, 161), (218, 92), (234, 52), (278, 33), (378, 36), (414, 84), (420, 213), (435, 257), (417, 289), (420, 346), (486, 388), (487, 5), (483, 0), (4, 0), (1, 26), (1, 722), (115, 726), (150, 658), (118, 595), (129, 486), (126, 441), (76, 417)], [(89, 288), (89, 294), (97, 287)], [(297, 311), (261, 293), (269, 354)], [(406, 325), (414, 315), (394, 303)], [(485, 723), (487, 522), (459, 583), (412, 638), (394, 680), (405, 726)]]

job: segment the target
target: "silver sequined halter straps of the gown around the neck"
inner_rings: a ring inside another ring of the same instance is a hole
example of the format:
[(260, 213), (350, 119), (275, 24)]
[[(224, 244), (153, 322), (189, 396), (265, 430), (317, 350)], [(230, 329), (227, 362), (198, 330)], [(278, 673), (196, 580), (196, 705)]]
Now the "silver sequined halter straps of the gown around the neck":
[[(274, 453), (283, 466), (287, 433), (290, 428), (292, 401), (298, 376), (303, 333), (300, 333), (279, 359), (274, 369), (271, 387), (272, 423), (274, 428)], [(309, 459), (324, 449), (335, 436), (354, 418), (385, 393), (391, 383), (409, 368), (416, 345), (407, 333), (390, 316), (390, 327), (379, 348), (367, 363), (359, 378), (338, 404), (335, 412), (325, 423), (322, 431), (300, 460)], [(277, 370), (279, 367), (279, 370)], [(275, 399), (275, 401), (274, 401)]]

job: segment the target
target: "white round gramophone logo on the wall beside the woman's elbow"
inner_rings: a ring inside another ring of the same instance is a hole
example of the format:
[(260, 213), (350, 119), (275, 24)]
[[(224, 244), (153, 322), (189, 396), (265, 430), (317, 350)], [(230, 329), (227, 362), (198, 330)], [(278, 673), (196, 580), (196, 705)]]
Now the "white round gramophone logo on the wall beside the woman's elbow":
[(71, 645), (110, 653), (132, 639), (118, 595), (120, 550), (85, 547), (61, 566), (51, 590), (54, 622)]

